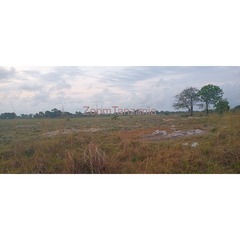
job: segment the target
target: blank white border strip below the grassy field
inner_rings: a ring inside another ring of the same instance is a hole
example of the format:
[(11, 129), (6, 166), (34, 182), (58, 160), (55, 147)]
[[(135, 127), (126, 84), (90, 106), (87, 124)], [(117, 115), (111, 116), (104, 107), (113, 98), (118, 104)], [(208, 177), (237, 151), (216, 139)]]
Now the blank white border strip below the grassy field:
[(237, 175), (0, 176), (3, 239), (237, 239)]

